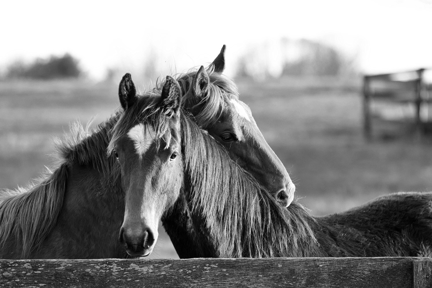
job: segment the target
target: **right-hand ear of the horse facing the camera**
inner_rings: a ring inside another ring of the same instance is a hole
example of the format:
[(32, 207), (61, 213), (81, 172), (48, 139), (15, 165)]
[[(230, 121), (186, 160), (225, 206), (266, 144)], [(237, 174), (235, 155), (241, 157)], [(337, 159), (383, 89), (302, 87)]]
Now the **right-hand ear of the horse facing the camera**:
[(165, 85), (162, 88), (160, 106), (162, 111), (172, 117), (178, 114), (181, 105), (181, 89), (178, 82), (171, 76), (166, 76)]

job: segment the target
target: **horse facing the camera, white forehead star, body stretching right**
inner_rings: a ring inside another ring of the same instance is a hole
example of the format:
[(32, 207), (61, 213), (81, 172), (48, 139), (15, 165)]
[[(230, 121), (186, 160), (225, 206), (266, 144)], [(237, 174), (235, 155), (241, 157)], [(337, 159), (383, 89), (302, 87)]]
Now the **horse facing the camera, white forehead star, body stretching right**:
[(120, 238), (130, 255), (152, 252), (162, 218), (182, 258), (432, 256), (432, 193), (391, 194), (324, 217), (296, 201), (283, 208), (181, 111), (179, 88), (167, 83), (161, 97), (124, 94), (132, 108), (108, 146), (121, 166)]

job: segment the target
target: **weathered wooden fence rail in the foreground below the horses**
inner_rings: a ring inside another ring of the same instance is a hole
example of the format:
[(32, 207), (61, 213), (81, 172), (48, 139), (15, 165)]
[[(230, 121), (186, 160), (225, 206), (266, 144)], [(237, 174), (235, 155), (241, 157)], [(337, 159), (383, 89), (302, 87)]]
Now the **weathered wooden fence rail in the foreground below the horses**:
[(432, 258), (0, 260), (0, 287), (430, 288)]

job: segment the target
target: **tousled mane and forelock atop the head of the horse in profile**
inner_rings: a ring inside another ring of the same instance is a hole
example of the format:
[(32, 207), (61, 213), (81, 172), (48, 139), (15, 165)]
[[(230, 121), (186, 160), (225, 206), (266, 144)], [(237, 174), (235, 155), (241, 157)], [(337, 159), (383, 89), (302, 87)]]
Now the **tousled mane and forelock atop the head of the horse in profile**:
[(185, 73), (176, 75), (176, 80), (182, 90), (183, 107), (190, 112), (198, 111), (198, 113), (194, 113), (196, 123), (200, 127), (206, 127), (211, 124), (214, 117), (222, 113), (226, 102), (231, 99), (238, 100), (238, 89), (232, 79), (215, 72), (214, 65), (210, 65), (207, 68), (210, 78), (208, 91), (200, 101), (197, 101), (197, 96), (194, 93), (196, 73), (197, 68), (192, 68)]

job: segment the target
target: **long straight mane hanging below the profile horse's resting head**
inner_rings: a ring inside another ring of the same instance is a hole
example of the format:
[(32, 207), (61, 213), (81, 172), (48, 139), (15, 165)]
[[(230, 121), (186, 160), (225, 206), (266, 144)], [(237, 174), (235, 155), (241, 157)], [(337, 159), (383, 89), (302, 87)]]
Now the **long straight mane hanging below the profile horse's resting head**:
[(207, 133), (182, 117), (191, 206), (205, 219), (221, 257), (306, 256), (314, 218), (293, 202), (282, 208)]

